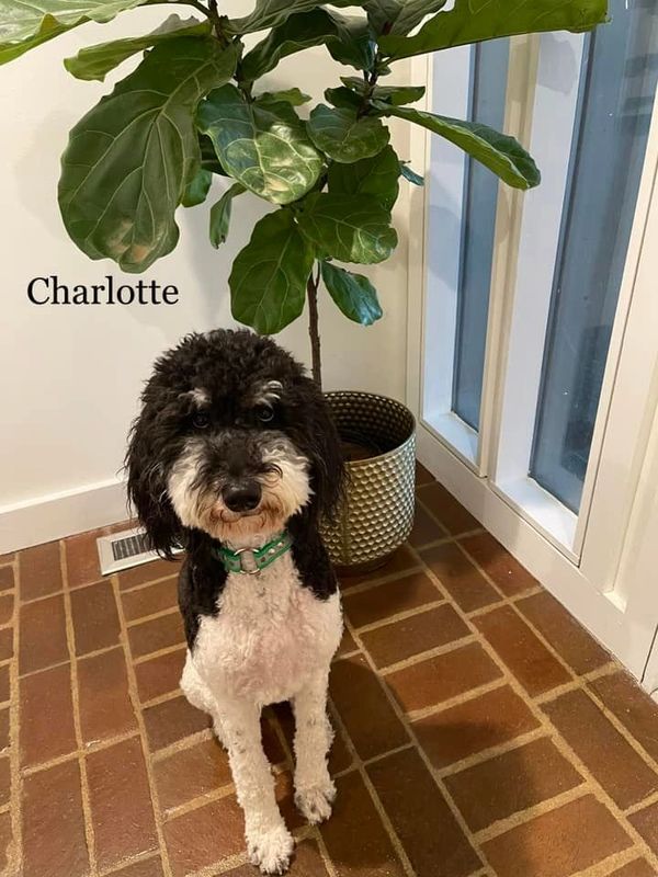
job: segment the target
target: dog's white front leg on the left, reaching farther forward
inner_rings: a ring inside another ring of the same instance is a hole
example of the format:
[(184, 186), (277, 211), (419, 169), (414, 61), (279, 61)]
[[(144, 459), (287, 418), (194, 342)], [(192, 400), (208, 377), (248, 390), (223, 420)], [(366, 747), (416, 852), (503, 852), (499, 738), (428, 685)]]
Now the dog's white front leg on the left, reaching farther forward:
[(261, 742), (260, 707), (250, 701), (222, 701), (220, 725), (238, 801), (245, 811), (245, 836), (251, 862), (264, 874), (283, 874), (294, 841), (276, 799), (270, 763)]

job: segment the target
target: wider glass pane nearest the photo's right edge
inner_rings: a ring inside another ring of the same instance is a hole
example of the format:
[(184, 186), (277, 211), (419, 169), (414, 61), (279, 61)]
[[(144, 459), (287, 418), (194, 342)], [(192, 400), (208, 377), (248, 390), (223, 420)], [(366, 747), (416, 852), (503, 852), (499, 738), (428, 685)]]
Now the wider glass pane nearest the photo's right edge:
[(655, 0), (612, 0), (586, 42), (531, 476), (577, 512), (658, 77)]

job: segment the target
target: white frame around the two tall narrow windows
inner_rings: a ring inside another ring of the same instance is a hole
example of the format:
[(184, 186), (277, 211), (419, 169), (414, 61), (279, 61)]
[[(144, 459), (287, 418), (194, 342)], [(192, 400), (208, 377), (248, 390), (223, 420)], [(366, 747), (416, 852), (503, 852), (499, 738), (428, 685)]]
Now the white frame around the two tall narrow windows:
[[(541, 38), (536, 36), (515, 37), (511, 46), (506, 127), (523, 143), (530, 143), (540, 47)], [(426, 98), (426, 106), (430, 107), (432, 59), (413, 59), (411, 67), (412, 81), (430, 87)], [(430, 135), (412, 127), (410, 137), (411, 164), (427, 174)], [(496, 483), (489, 477), (498, 475), (497, 430), (503, 413), (524, 196), (500, 187), (480, 441), (475, 462), (451, 442), (445, 429), (439, 432), (434, 418), (428, 420), (422, 403), (427, 399), (427, 345), (439, 343), (436, 327), (429, 331), (427, 308), (426, 231), (431, 195), (426, 197), (423, 190), (413, 187), (409, 197), (407, 397), (418, 418), (419, 457), (638, 679), (647, 668), (658, 628), (658, 589), (654, 585), (658, 539), (648, 538), (646, 533), (646, 509), (656, 494), (647, 480), (647, 467), (655, 466), (654, 485), (658, 470), (658, 462), (650, 464), (649, 453), (654, 442), (658, 448), (658, 251), (650, 243), (658, 240), (657, 169), (658, 107), (620, 293), (620, 316), (613, 327), (603, 379), (582, 512), (572, 528), (571, 547), (556, 537), (554, 526), (547, 526), (541, 515), (529, 513), (506, 492), (503, 479)], [(443, 329), (439, 331), (443, 334)], [(655, 455), (658, 459), (658, 449)], [(658, 520), (658, 508), (655, 515)], [(647, 558), (653, 558), (653, 566)], [(658, 687), (658, 656), (655, 664), (654, 682)]]

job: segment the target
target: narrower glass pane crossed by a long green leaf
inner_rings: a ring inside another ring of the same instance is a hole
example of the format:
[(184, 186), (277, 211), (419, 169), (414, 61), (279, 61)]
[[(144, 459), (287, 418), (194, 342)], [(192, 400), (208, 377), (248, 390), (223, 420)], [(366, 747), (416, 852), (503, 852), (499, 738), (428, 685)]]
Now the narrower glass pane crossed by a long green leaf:
[[(483, 43), (473, 49), (469, 118), (497, 130), (504, 124), (508, 62), (508, 39)], [(498, 179), (479, 162), (467, 159), (453, 411), (474, 430), (479, 429), (497, 198)]]

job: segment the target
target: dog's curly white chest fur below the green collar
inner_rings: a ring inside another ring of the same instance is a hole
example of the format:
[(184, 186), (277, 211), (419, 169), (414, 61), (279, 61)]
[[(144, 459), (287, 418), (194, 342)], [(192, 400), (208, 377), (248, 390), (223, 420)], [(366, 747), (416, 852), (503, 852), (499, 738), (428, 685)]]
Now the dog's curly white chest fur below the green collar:
[(194, 669), (216, 697), (286, 701), (328, 667), (342, 634), (338, 592), (321, 601), (288, 553), (258, 576), (229, 573), (216, 616), (201, 620)]

